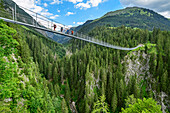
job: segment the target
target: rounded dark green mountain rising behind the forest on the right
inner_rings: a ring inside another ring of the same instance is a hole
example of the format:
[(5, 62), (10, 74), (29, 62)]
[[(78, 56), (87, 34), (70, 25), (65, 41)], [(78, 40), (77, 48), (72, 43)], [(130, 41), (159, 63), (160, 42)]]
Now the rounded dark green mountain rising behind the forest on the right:
[(90, 22), (86, 22), (82, 26), (78, 26), (76, 30), (79, 32), (88, 33), (96, 26), (127, 26), (132, 28), (141, 28), (153, 30), (153, 28), (160, 28), (161, 30), (170, 30), (170, 20), (162, 15), (145, 8), (127, 7), (122, 10), (111, 11)]

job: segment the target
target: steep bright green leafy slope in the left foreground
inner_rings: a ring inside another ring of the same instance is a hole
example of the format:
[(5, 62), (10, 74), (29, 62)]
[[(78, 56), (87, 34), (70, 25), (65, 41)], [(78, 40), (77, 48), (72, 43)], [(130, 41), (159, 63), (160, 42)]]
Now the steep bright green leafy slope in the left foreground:
[(51, 95), (25, 40), (2, 20), (0, 34), (0, 112), (61, 111), (62, 99)]

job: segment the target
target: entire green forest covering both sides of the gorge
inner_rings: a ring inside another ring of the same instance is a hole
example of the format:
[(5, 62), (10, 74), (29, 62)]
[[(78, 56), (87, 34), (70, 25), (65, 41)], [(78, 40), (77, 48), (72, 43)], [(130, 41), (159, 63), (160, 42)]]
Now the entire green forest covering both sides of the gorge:
[(72, 39), (64, 47), (1, 20), (0, 112), (170, 112), (169, 31), (106, 25), (88, 35), (144, 46), (120, 51)]

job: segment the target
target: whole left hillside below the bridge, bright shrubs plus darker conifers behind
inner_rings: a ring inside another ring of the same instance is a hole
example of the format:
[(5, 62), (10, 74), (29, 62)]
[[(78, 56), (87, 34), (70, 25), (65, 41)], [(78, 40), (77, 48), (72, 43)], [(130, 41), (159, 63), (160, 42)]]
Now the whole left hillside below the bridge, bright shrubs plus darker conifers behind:
[(0, 112), (62, 112), (65, 100), (51, 95), (50, 82), (41, 73), (38, 61), (49, 63), (59, 58), (56, 49), (60, 56), (65, 51), (59, 44), (22, 27), (0, 20)]

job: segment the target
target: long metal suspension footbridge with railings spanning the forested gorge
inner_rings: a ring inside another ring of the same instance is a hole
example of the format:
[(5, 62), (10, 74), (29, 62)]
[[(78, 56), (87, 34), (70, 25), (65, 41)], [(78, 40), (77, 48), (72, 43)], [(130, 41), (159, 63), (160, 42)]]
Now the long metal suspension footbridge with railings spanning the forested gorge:
[[(21, 8), (22, 10), (17, 10), (17, 8)], [(21, 14), (22, 12), (27, 12), (29, 15), (23, 15)], [(35, 13), (29, 9), (26, 9), (22, 6), (18, 6), (15, 5), (14, 7), (9, 6), (8, 9), (3, 9), (0, 10), (1, 14), (7, 14), (8, 13), (8, 18), (7, 17), (2, 17), (0, 16), (0, 19), (6, 21), (6, 22), (10, 22), (10, 23), (14, 23), (14, 24), (20, 24), (20, 25), (24, 25), (27, 27), (32, 27), (35, 29), (39, 29), (39, 30), (43, 30), (43, 31), (47, 31), (47, 32), (51, 32), (51, 33), (56, 33), (62, 36), (66, 36), (66, 37), (70, 37), (70, 38), (74, 38), (74, 39), (79, 39), (79, 40), (83, 40), (86, 42), (90, 42), (93, 44), (97, 44), (100, 46), (104, 46), (104, 47), (108, 47), (108, 48), (113, 48), (113, 49), (119, 49), (119, 50), (134, 50), (137, 49), (139, 47), (142, 47), (143, 45), (140, 44), (136, 47), (133, 48), (126, 48), (126, 47), (120, 47), (120, 46), (115, 46), (112, 44), (109, 44), (105, 41), (101, 41), (98, 40), (96, 38), (93, 37), (89, 37), (89, 36), (85, 36), (82, 33), (74, 33), (71, 34), (70, 33), (65, 33), (65, 32), (61, 32), (60, 30), (53, 30), (53, 25), (57, 24), (58, 26), (62, 26), (64, 28), (67, 28), (66, 25), (63, 25), (59, 22), (56, 22), (52, 19), (49, 19), (41, 14)]]

